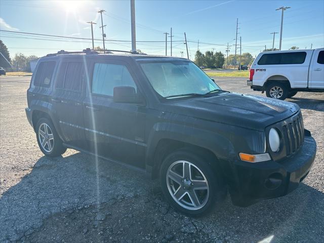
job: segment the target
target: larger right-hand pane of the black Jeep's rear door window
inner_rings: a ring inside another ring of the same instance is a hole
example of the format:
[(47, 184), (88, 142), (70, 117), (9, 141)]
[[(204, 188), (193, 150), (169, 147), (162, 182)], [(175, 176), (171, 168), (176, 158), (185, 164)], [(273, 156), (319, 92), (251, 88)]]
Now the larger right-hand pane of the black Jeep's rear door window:
[(65, 90), (80, 91), (81, 80), (84, 76), (82, 62), (69, 62), (66, 68), (63, 88)]

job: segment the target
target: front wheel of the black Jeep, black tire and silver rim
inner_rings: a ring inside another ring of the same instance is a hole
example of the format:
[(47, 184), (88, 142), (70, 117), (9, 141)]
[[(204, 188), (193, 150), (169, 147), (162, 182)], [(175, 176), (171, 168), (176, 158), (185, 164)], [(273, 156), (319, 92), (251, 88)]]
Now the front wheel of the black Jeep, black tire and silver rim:
[(214, 208), (221, 198), (221, 180), (208, 162), (203, 156), (184, 149), (171, 153), (163, 161), (160, 184), (174, 209), (189, 216), (200, 216)]

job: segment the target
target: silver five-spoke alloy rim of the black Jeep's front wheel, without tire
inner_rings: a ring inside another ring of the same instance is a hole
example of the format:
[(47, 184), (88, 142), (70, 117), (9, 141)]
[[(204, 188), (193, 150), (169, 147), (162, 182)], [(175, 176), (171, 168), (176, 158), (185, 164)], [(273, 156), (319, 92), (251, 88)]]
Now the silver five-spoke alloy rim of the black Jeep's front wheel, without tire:
[(192, 163), (176, 161), (169, 167), (166, 179), (172, 198), (181, 207), (198, 210), (206, 205), (209, 198), (208, 181)]

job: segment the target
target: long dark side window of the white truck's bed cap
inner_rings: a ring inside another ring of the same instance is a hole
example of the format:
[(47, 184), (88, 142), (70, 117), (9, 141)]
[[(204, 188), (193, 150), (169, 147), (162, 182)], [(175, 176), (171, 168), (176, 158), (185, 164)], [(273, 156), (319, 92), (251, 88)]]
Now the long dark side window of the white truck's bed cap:
[(286, 52), (263, 54), (259, 65), (302, 64), (305, 62), (306, 52)]

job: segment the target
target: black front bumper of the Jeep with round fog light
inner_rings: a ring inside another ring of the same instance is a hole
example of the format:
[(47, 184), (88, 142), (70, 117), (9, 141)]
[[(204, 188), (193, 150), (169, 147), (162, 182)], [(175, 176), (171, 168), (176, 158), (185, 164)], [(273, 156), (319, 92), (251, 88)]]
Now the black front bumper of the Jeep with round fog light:
[(233, 204), (247, 207), (259, 200), (292, 192), (308, 175), (315, 155), (316, 142), (313, 137), (306, 136), (298, 153), (280, 162), (234, 161), (232, 178), (228, 181)]

